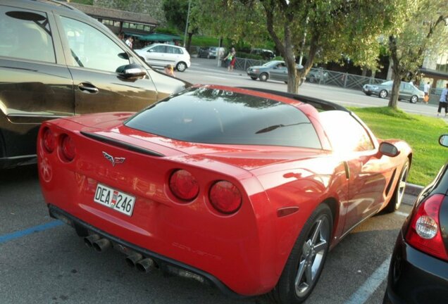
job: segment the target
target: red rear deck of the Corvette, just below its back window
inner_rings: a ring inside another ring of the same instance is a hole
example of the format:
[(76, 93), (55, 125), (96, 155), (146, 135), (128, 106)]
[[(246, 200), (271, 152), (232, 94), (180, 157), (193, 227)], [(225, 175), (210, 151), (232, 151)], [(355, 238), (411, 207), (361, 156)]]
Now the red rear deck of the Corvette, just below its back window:
[[(123, 125), (133, 113), (104, 113), (64, 118), (84, 127), (82, 132), (98, 134), (118, 141), (125, 141), (142, 148), (150, 148), (171, 158), (195, 156), (234, 165), (244, 170), (255, 170), (266, 165), (288, 160), (313, 158), (323, 151), (310, 148), (285, 146), (253, 146), (230, 144), (201, 144), (179, 141), (131, 129)], [(149, 146), (148, 146), (149, 144)]]

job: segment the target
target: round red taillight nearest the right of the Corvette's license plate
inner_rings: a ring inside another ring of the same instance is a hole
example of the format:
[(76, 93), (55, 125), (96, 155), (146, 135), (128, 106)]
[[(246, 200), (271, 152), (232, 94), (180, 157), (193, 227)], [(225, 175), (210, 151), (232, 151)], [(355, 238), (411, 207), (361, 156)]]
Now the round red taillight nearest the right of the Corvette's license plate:
[(177, 170), (170, 177), (170, 189), (183, 201), (192, 201), (199, 193), (199, 184), (187, 170)]

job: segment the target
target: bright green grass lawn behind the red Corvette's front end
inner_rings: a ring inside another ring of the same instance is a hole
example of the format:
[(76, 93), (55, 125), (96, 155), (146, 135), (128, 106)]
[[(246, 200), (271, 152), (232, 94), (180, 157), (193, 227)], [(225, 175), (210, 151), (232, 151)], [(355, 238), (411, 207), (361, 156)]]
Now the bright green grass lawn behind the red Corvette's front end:
[(425, 186), (448, 158), (448, 148), (439, 137), (448, 134), (448, 124), (439, 118), (412, 115), (392, 108), (350, 108), (380, 139), (404, 139), (413, 149), (408, 182)]

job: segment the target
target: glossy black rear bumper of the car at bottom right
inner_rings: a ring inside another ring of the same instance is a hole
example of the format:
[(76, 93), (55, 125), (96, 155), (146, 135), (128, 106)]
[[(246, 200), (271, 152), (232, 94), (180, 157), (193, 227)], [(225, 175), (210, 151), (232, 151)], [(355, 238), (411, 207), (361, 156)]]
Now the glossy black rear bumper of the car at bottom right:
[(390, 262), (385, 303), (448, 303), (448, 262), (409, 246), (400, 232)]

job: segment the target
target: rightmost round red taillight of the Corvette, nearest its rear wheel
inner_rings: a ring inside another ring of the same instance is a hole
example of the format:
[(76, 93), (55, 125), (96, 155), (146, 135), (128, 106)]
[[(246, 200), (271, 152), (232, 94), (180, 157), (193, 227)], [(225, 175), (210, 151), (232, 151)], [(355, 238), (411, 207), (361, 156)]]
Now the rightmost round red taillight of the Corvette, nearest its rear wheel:
[(231, 182), (220, 181), (211, 186), (210, 203), (220, 213), (232, 214), (241, 207), (242, 196), (237, 186)]

